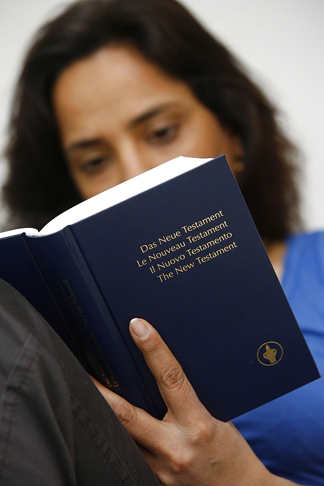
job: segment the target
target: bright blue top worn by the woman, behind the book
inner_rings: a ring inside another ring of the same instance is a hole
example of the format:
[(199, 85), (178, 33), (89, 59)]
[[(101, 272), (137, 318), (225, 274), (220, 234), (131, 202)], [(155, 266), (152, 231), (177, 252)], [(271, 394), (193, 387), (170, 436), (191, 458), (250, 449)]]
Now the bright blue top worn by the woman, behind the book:
[(233, 420), (266, 467), (324, 485), (324, 232), (288, 240), (282, 286), (322, 378)]

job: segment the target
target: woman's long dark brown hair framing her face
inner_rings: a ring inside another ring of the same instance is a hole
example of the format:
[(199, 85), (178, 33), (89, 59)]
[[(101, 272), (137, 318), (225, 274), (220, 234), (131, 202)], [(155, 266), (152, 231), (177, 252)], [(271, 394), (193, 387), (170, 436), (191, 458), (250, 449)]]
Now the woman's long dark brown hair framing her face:
[(67, 66), (111, 43), (135, 46), (184, 81), (240, 136), (245, 169), (238, 182), (259, 233), (268, 240), (289, 235), (299, 223), (294, 149), (278, 129), (275, 109), (227, 49), (175, 0), (81, 0), (40, 30), (21, 73), (10, 125), (3, 199), (12, 224), (40, 228), (81, 201), (61, 149), (51, 91)]

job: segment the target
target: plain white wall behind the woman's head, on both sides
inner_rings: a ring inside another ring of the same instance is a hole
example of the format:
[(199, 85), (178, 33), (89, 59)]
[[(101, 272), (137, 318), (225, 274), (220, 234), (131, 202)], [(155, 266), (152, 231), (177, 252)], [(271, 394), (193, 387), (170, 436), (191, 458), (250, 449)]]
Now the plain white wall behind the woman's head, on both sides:
[[(134, 0), (136, 1), (136, 0)], [(324, 0), (182, 0), (250, 69), (304, 153), (303, 212), (324, 227)], [(23, 54), (68, 1), (0, 0), (0, 150)], [(1, 160), (0, 182), (4, 174)]]

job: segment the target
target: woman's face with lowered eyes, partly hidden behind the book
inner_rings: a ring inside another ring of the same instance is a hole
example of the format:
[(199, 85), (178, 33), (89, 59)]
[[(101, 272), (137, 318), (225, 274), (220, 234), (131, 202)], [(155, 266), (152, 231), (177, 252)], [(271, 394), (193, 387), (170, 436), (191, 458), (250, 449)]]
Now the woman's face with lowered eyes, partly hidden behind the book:
[(113, 46), (75, 62), (59, 76), (53, 105), (72, 180), (81, 197), (177, 156), (242, 155), (191, 89), (135, 49)]

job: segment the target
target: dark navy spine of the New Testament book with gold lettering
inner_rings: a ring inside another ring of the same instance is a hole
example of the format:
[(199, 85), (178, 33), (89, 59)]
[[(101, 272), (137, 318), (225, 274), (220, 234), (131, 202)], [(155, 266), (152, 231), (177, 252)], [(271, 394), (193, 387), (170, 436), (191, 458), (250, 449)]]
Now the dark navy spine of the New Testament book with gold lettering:
[(86, 370), (135, 406), (163, 417), (165, 405), (158, 387), (154, 382), (148, 390), (70, 228), (28, 238), (28, 244), (81, 350)]

